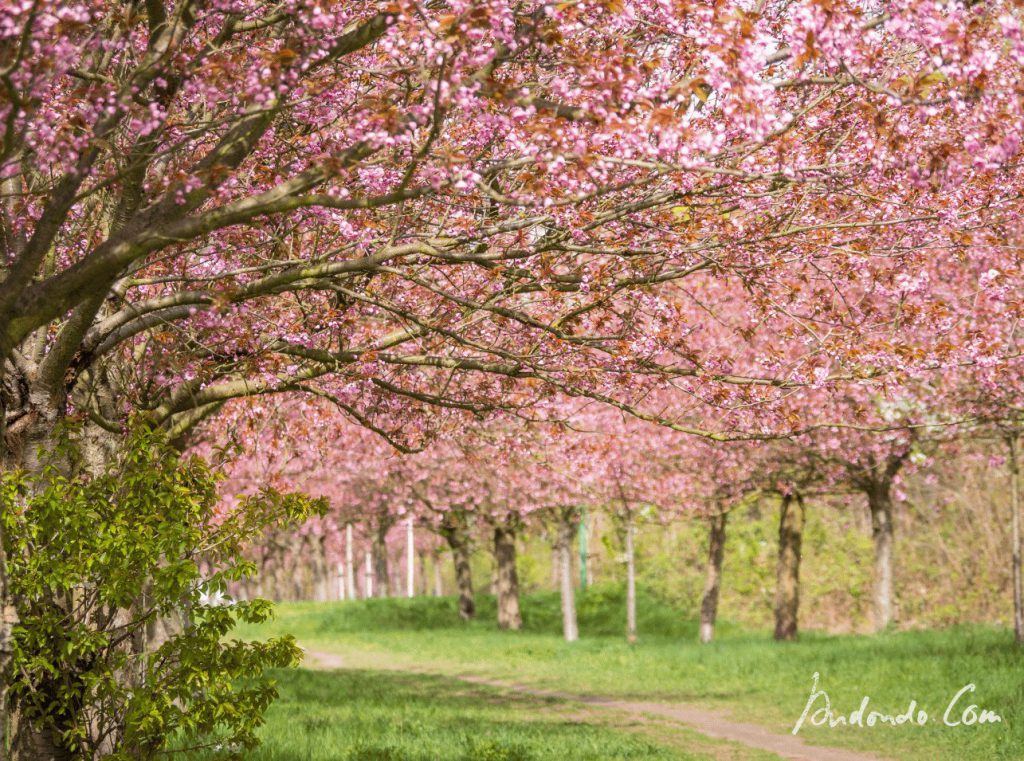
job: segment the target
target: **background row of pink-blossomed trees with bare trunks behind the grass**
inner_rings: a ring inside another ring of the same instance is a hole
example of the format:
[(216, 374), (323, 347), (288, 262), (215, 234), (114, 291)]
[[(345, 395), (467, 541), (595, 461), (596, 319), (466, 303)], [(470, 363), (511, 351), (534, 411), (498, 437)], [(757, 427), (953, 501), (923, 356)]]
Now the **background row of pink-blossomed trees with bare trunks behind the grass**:
[[(963, 472), (972, 461), (992, 458), (1002, 467), (985, 470), (986, 477), (1010, 494), (1010, 515), (1020, 511), (1016, 439), (999, 424), (961, 423), (912, 432), (899, 428), (869, 436), (831, 432), (823, 441), (800, 436), (709, 443), (651, 429), (618, 413), (595, 414), (590, 406), (581, 411), (564, 404), (559, 417), (551, 412), (544, 423), (492, 418), (474, 425), (460, 420), (430, 448), (414, 454), (394, 453), (366, 429), (337, 425), (319, 405), (290, 401), (278, 410), (261, 410), (258, 417), (247, 412), (228, 416), (225, 430), (253, 445), (228, 467), (228, 491), (255, 493), (281, 480), (330, 505), (299, 531), (274, 532), (257, 543), (255, 557), (264, 573), (233, 591), (242, 598), (321, 600), (440, 594), (439, 568), (451, 562), (455, 588), (447, 591), (458, 594), (463, 619), (474, 618), (475, 590), (483, 587), (497, 598), (498, 627), (518, 629), (517, 545), (543, 539), (552, 552), (552, 586), (562, 595), (563, 633), (572, 640), (580, 633), (572, 599), (578, 532), (587, 514), (592, 519), (600, 514), (622, 551), (618, 561), (628, 590), (623, 627), (634, 638), (637, 522), (696, 519), (707, 525), (698, 612), (700, 640), (709, 642), (723, 584), (729, 516), (757, 502), (777, 511), (774, 634), (792, 640), (799, 630), (807, 511), (830, 500), (833, 508), (851, 517), (859, 517), (858, 512), (867, 516), (873, 554), (873, 567), (866, 574), (872, 580), (871, 627), (883, 631), (895, 619), (894, 580), (901, 562), (895, 535), (908, 478), (922, 476), (928, 482), (939, 470)], [(296, 430), (298, 437), (293, 437), (290, 431)], [(855, 459), (829, 454), (837, 451), (859, 454)], [(986, 512), (982, 519), (995, 519), (996, 512)], [(1016, 580), (1020, 538), (1014, 517), (994, 531), (1009, 537), (997, 562), (1011, 568)], [(580, 552), (586, 554), (585, 548)], [(489, 578), (474, 582), (473, 554), (489, 555)], [(1016, 585), (1005, 603), (1014, 620), (1021, 617), (1024, 606)], [(1024, 632), (1015, 628), (1018, 641), (1024, 641)]]

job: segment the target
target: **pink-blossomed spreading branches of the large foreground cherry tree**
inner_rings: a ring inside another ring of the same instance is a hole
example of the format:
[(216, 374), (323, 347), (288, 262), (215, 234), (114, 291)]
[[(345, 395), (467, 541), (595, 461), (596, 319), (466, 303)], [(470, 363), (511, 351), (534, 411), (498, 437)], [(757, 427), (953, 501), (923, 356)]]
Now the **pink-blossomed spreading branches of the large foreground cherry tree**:
[[(999, 327), (921, 346), (948, 308), (937, 255), (1009, 271), (1020, 20), (1009, 0), (6, 4), (0, 463), (38, 471), (74, 424), (98, 466), (132, 416), (178, 437), (284, 391), (407, 449), (438, 408), (553, 393), (775, 436), (829, 422), (795, 388), (998, 360)], [(737, 353), (735, 331), (771, 340)], [(666, 385), (734, 414), (652, 405)]]

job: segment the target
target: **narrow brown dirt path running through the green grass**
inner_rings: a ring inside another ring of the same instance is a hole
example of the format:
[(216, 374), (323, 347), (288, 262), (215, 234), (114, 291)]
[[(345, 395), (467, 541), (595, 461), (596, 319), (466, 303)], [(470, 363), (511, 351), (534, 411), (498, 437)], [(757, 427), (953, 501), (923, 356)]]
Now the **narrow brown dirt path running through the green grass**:
[[(335, 652), (322, 652), (317, 650), (306, 650), (306, 654), (314, 662), (315, 667), (322, 669), (344, 669), (349, 666), (344, 657)], [(382, 668), (375, 664), (374, 668)], [(388, 668), (388, 667), (383, 667)], [(410, 671), (407, 667), (392, 667), (394, 671)], [(421, 672), (418, 673), (432, 673)], [(460, 675), (453, 677), (458, 681), (469, 684), (479, 684), (487, 687), (498, 687), (511, 692), (530, 695), (535, 697), (554, 697), (557, 700), (580, 703), (585, 706), (592, 706), (598, 709), (617, 711), (629, 714), (639, 719), (650, 719), (657, 717), (662, 720), (669, 720), (682, 724), (687, 728), (694, 729), (700, 734), (717, 739), (730, 741), (740, 745), (755, 748), (761, 751), (768, 751), (777, 756), (788, 759), (788, 761), (886, 761), (881, 756), (859, 751), (848, 751), (842, 748), (830, 748), (823, 746), (813, 746), (805, 743), (800, 736), (793, 734), (778, 734), (765, 729), (758, 724), (748, 724), (746, 722), (733, 721), (726, 718), (718, 711), (712, 711), (696, 706), (687, 706), (677, 703), (656, 703), (647, 701), (628, 701), (617, 697), (607, 697), (602, 695), (578, 694), (572, 692), (559, 692), (555, 690), (539, 689), (526, 687), (520, 684), (513, 684), (498, 679), (485, 679), (482, 677)]]

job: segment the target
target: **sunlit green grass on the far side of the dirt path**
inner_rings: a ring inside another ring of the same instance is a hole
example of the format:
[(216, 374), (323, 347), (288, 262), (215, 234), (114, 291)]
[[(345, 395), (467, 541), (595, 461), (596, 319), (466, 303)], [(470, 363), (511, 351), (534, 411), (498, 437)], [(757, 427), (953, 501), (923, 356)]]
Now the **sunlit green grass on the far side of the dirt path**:
[[(347, 663), (365, 668), (416, 667), (446, 676), (476, 674), (564, 691), (695, 703), (723, 709), (734, 718), (778, 732), (793, 728), (807, 702), (811, 675), (817, 671), (821, 686), (840, 713), (849, 714), (866, 694), (872, 707), (892, 714), (902, 713), (910, 700), (916, 700), (932, 720), (923, 727), (805, 726), (801, 735), (809, 742), (874, 750), (908, 761), (1024, 758), (1024, 661), (1012, 634), (1004, 630), (959, 627), (881, 636), (805, 633), (799, 642), (779, 644), (771, 641), (768, 633), (723, 626), (714, 644), (701, 646), (695, 641), (695, 624), (683, 611), (641, 595), (641, 640), (631, 646), (620, 634), (621, 593), (598, 588), (582, 595), (583, 639), (569, 644), (559, 637), (554, 595), (535, 595), (523, 602), (525, 628), (514, 633), (495, 630), (489, 597), (481, 597), (479, 619), (470, 624), (458, 621), (455, 601), (449, 598), (367, 600), (281, 605), (276, 621), (258, 632), (245, 633), (264, 636), (290, 632), (311, 649), (343, 653)], [(331, 678), (349, 678), (346, 673)], [(294, 697), (287, 692), (293, 679), (298, 677), (284, 681), (285, 703), (271, 712), (271, 723), (293, 705)], [(994, 710), (1004, 717), (1001, 723), (973, 727), (942, 724), (947, 703), (969, 682), (977, 684), (977, 691), (964, 705), (977, 703)], [(351, 692), (349, 700), (361, 700), (359, 690)], [(399, 700), (390, 707), (382, 706), (380, 715), (391, 711), (402, 716), (404, 705)], [(499, 712), (495, 719), (497, 726), (505, 726), (509, 719), (508, 732), (500, 735), (507, 741), (502, 742), (526, 742), (531, 736), (527, 728), (538, 719), (520, 725), (509, 716)], [(487, 721), (485, 717), (479, 720)], [(459, 748), (458, 752), (469, 752)]]

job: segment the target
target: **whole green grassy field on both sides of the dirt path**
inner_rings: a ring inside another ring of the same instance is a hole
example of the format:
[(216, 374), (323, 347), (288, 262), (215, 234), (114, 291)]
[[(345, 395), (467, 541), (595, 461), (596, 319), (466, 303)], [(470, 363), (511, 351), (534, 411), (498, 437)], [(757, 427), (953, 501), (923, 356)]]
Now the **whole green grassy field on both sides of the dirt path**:
[[(358, 670), (282, 674), (283, 699), (268, 716), (267, 746), (254, 758), (750, 758), (685, 732), (639, 732), (626, 721), (574, 716), (580, 708), (573, 704), (509, 703), (508, 695), (451, 677), (699, 704), (785, 733), (807, 704), (814, 672), (836, 713), (849, 715), (869, 695), (870, 709), (894, 715), (914, 700), (930, 720), (924, 726), (805, 725), (801, 735), (809, 742), (908, 761), (1024, 758), (1024, 657), (1002, 630), (806, 633), (797, 643), (779, 644), (768, 633), (723, 625), (719, 639), (701, 646), (691, 620), (641, 595), (641, 639), (629, 645), (620, 634), (621, 593), (597, 588), (580, 600), (583, 639), (568, 644), (559, 637), (554, 595), (523, 602), (521, 632), (496, 631), (494, 601), (485, 596), (470, 624), (458, 621), (449, 598), (281, 605), (276, 621), (244, 634), (289, 632), (310, 649), (341, 653)], [(387, 671), (395, 668), (406, 673)], [(1001, 722), (944, 725), (947, 705), (969, 683), (976, 691), (951, 716), (977, 704)], [(494, 747), (474, 746), (483, 735)], [(573, 749), (582, 750), (572, 755)]]

